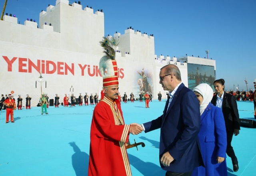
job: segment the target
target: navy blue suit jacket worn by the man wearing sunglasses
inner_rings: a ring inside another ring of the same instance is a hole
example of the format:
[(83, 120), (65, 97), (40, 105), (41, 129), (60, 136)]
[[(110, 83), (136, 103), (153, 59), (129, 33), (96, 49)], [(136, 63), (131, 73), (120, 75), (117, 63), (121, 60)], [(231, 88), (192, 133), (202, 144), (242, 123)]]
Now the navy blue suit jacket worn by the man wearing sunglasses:
[(170, 172), (191, 172), (204, 165), (198, 140), (199, 102), (194, 92), (183, 83), (178, 87), (166, 112), (168, 102), (166, 101), (163, 115), (143, 124), (145, 132), (161, 128), (159, 159), (167, 151), (174, 158), (168, 167), (160, 163), (162, 169)]

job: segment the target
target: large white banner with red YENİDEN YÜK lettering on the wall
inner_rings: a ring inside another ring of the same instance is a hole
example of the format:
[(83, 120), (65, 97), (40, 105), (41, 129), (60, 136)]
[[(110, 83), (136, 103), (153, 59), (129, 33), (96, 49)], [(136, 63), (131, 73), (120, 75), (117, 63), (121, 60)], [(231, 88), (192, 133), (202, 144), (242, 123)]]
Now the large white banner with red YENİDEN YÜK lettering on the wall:
[[(70, 51), (43, 49), (31, 46), (0, 43), (1, 94), (13, 94), (14, 98), (27, 94), (32, 97), (32, 105), (37, 105), (42, 92), (50, 99), (55, 94), (63, 101), (67, 94), (78, 98), (99, 93), (102, 76), (99, 61), (102, 55), (86, 55)], [(138, 98), (141, 91), (153, 94), (152, 64), (130, 62), (124, 57), (116, 57), (118, 65), (119, 91)], [(40, 79), (40, 72), (42, 78)], [(71, 89), (72, 87), (72, 89)]]

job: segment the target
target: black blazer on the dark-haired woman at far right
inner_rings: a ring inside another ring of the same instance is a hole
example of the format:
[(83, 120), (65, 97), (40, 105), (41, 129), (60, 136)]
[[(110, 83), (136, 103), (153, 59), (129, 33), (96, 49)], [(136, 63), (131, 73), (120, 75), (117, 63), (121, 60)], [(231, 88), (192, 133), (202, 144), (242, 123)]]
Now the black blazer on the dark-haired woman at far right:
[[(212, 97), (211, 103), (216, 106), (217, 95)], [(237, 109), (236, 99), (224, 91), (222, 102), (222, 113), (224, 116), (226, 131), (234, 132), (234, 129), (240, 130), (239, 113)]]

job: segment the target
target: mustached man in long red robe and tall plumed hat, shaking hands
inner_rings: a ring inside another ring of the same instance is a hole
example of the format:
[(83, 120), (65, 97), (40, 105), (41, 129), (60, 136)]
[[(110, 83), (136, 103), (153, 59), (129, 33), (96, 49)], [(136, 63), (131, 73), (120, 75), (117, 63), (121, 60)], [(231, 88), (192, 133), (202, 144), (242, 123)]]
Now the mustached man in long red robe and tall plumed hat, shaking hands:
[[(105, 46), (108, 38), (101, 45)], [(111, 44), (115, 44), (111, 41)], [(112, 48), (111, 54), (115, 53)], [(105, 70), (108, 70), (105, 73)], [(100, 73), (103, 77), (104, 98), (93, 111), (90, 131), (90, 156), (88, 176), (131, 176), (131, 168), (126, 151), (129, 134), (143, 131), (137, 125), (125, 125), (120, 101), (118, 101), (117, 65), (113, 57), (100, 59)]]

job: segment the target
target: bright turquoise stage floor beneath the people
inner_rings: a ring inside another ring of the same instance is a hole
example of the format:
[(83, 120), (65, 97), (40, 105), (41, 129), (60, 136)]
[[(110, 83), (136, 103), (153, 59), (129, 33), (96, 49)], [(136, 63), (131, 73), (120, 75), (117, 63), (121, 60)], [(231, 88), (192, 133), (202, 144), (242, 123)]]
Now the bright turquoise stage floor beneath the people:
[[(145, 123), (162, 114), (165, 100), (150, 102), (122, 102), (126, 124)], [(40, 107), (14, 111), (15, 123), (5, 123), (6, 111), (0, 111), (0, 176), (86, 176), (88, 172), (90, 124), (95, 105), (47, 109)], [(254, 119), (253, 102), (238, 102), (240, 118)], [(232, 146), (239, 162), (233, 172), (227, 158), (228, 176), (255, 176), (256, 129), (241, 127), (233, 137)], [(130, 135), (130, 142), (144, 142), (146, 146), (128, 149), (133, 176), (164, 176), (160, 168), (160, 130)]]

